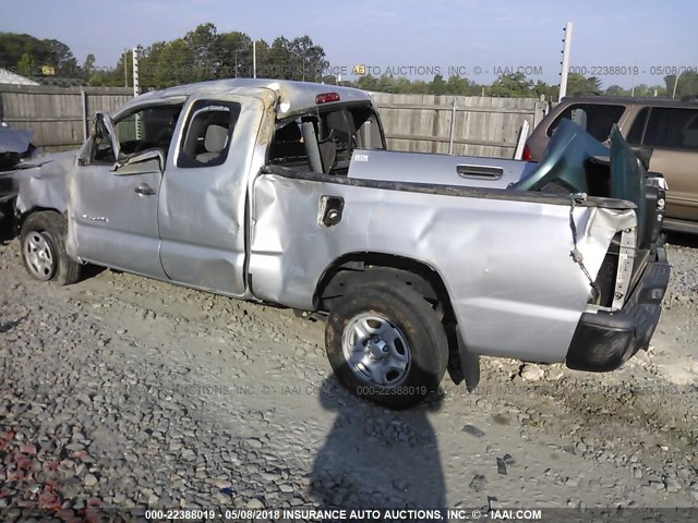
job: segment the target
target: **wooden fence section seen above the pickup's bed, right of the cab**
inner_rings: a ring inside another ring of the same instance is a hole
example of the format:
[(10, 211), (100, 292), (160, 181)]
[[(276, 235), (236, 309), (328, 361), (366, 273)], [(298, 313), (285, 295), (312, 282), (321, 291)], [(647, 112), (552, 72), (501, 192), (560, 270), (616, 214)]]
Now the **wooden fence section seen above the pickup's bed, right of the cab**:
[(524, 121), (529, 134), (546, 102), (534, 98), (373, 93), (388, 148), (513, 158)]

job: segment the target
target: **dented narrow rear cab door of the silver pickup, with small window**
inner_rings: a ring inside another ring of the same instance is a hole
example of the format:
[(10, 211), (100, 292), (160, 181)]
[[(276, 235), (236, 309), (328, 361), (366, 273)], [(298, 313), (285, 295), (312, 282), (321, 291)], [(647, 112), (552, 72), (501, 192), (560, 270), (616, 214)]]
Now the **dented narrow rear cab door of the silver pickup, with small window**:
[(244, 293), (245, 194), (263, 104), (192, 97), (160, 185), (160, 260), (179, 283)]

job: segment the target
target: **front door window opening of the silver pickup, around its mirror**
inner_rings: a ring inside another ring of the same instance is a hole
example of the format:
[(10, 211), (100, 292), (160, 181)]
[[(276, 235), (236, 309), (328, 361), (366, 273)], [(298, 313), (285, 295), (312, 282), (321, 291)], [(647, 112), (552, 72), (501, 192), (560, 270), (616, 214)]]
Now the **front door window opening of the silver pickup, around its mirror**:
[[(181, 105), (152, 106), (122, 117), (115, 122), (122, 155), (160, 148), (167, 156), (174, 126), (182, 111)], [(93, 159), (98, 162), (116, 160), (106, 129), (97, 129)]]

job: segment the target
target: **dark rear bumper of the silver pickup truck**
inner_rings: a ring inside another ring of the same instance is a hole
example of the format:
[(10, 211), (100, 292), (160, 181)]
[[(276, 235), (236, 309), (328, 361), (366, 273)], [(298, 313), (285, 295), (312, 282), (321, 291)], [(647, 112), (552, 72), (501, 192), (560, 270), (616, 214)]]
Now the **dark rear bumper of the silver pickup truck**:
[(577, 370), (614, 370), (646, 348), (659, 323), (670, 270), (666, 251), (660, 247), (623, 309), (583, 313), (565, 364)]

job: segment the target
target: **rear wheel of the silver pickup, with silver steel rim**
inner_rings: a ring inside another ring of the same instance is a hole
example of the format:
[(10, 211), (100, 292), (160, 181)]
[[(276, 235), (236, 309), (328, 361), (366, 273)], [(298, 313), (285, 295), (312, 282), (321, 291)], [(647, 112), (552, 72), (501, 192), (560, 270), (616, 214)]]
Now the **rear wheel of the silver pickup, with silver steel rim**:
[(335, 375), (356, 394), (406, 409), (436, 391), (448, 362), (444, 328), (407, 285), (360, 285), (338, 300), (325, 328)]

